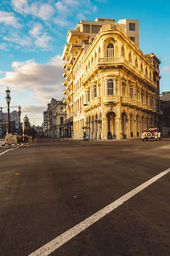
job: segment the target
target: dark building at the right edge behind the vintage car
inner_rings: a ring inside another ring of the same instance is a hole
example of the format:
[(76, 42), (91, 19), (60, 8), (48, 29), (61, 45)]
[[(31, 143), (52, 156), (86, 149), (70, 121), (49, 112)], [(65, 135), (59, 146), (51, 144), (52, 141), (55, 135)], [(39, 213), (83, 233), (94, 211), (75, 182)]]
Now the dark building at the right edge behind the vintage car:
[(163, 92), (160, 100), (162, 136), (170, 137), (170, 91)]

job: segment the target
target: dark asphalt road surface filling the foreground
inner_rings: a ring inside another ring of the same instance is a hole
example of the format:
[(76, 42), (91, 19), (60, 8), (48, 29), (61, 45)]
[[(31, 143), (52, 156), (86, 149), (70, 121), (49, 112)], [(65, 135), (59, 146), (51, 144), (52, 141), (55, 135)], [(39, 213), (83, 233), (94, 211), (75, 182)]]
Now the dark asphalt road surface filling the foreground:
[[(0, 255), (35, 252), (169, 167), (168, 139), (40, 139), (0, 155)], [(50, 255), (169, 256), (169, 184), (170, 173)]]

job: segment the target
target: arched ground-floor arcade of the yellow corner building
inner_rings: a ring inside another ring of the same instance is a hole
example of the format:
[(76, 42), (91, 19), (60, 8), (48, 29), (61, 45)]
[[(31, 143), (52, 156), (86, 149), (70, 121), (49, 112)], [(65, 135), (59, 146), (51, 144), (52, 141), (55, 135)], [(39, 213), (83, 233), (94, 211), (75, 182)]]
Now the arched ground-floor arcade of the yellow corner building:
[(82, 139), (85, 133), (90, 140), (139, 138), (141, 132), (158, 125), (155, 112), (136, 108), (101, 107), (83, 113), (74, 119), (74, 138)]

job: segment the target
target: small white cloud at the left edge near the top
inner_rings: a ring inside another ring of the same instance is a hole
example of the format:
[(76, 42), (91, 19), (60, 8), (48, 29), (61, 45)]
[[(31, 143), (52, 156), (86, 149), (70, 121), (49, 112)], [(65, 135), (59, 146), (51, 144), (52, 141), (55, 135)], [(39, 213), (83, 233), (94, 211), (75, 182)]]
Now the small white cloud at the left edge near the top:
[(14, 17), (13, 13), (0, 11), (0, 23), (8, 26), (20, 27), (17, 18)]

